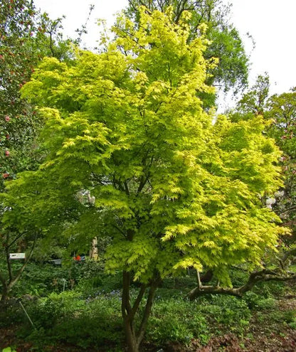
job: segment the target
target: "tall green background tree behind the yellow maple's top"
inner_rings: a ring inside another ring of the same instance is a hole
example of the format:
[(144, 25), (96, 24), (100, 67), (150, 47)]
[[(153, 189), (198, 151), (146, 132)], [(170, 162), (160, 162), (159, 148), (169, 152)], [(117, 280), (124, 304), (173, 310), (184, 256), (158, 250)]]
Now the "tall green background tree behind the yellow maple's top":
[[(204, 57), (208, 60), (218, 58), (218, 65), (209, 68), (208, 85), (215, 85), (225, 92), (238, 92), (248, 84), (248, 57), (245, 54), (243, 43), (238, 30), (230, 23), (229, 13), (231, 6), (226, 6), (221, 0), (129, 0), (126, 10), (128, 16), (139, 21), (138, 6), (147, 6), (153, 11), (165, 11), (173, 7), (173, 18), (176, 23), (184, 13), (189, 11), (190, 35), (188, 41), (200, 35), (199, 26), (206, 23), (207, 46)], [(203, 95), (204, 96), (204, 95)], [(207, 95), (207, 99), (208, 99)], [(209, 101), (208, 104), (213, 104)]]

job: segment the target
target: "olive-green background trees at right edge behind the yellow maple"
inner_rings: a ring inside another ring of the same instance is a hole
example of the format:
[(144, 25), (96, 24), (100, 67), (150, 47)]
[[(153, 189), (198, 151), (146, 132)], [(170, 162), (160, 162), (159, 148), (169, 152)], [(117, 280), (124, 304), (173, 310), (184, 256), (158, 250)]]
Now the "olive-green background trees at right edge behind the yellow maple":
[(287, 270), (291, 256), (295, 256), (295, 89), (282, 94), (270, 96), (268, 74), (258, 75), (250, 90), (245, 92), (235, 110), (231, 112), (231, 119), (252, 119), (262, 116), (266, 121), (264, 133), (275, 139), (275, 144), (282, 151), (279, 159), (284, 184), (279, 191), (267, 193), (263, 202), (275, 211), (282, 220), (282, 225), (292, 230), (292, 236), (280, 240), (280, 255), (269, 258), (273, 266), (280, 266), (280, 270)]

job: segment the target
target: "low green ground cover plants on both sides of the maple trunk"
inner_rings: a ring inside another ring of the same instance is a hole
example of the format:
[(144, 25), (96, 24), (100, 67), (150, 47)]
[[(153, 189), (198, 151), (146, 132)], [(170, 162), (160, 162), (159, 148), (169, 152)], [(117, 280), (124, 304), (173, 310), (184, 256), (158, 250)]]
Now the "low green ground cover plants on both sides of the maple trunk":
[[(82, 267), (76, 266), (79, 270)], [(34, 326), (21, 306), (11, 302), (6, 316), (1, 316), (1, 348), (12, 346), (17, 348), (16, 351), (41, 348), (42, 351), (57, 351), (54, 348), (58, 346), (58, 351), (125, 350), (120, 313), (120, 275), (108, 277), (102, 271), (94, 275), (94, 271), (84, 269), (84, 272), (93, 273), (84, 278), (77, 270), (72, 289), (67, 285), (63, 291), (63, 287), (49, 284), (46, 294), (42, 289), (42, 294), (36, 297), (33, 294), (40, 287), (40, 278), (58, 278), (68, 269), (51, 265), (51, 270), (48, 270), (44, 264), (32, 264), (31, 269), (36, 274), (23, 278), (23, 282), (29, 281), (30, 284), (24, 285), (23, 292), (18, 291), (18, 294), (23, 296), (23, 306)], [(240, 271), (236, 271), (233, 279), (242, 282), (244, 278)], [(221, 346), (226, 351), (234, 347), (237, 348), (234, 351), (255, 351), (251, 348), (257, 346), (262, 325), (265, 326), (264, 343), (268, 343), (270, 336), (273, 341), (270, 350), (266, 348), (264, 351), (272, 351), (274, 346), (279, 346), (281, 351), (280, 341), (282, 346), (292, 346), (294, 340), (291, 336), (294, 335), (291, 334), (296, 328), (296, 300), (290, 298), (284, 301), (283, 298), (287, 295), (295, 297), (293, 287), (268, 282), (248, 292), (242, 299), (228, 295), (206, 295), (192, 302), (186, 294), (195, 282), (196, 275), (191, 272), (190, 275), (167, 279), (157, 289), (142, 351), (155, 352), (161, 348), (164, 351), (203, 351), (206, 346), (212, 346), (212, 351), (218, 351)], [(35, 284), (36, 290), (32, 289), (30, 296), (26, 294), (26, 288)], [(136, 297), (138, 291), (139, 287), (134, 285), (132, 296)], [(287, 306), (287, 302), (291, 306)]]

